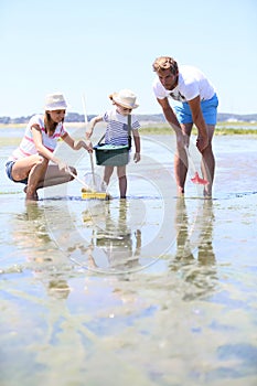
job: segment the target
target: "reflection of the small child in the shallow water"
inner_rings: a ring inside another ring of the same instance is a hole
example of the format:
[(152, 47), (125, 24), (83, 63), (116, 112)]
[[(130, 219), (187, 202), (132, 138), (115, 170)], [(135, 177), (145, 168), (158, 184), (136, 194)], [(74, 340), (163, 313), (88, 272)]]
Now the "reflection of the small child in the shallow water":
[[(85, 225), (90, 229), (90, 243), (69, 247), (68, 251), (74, 253), (79, 248), (84, 265), (98, 271), (126, 272), (139, 267), (141, 232), (130, 228), (127, 216), (126, 200), (119, 200), (118, 206), (105, 202), (94, 205), (89, 213), (84, 211)], [(96, 224), (90, 222), (92, 217)]]

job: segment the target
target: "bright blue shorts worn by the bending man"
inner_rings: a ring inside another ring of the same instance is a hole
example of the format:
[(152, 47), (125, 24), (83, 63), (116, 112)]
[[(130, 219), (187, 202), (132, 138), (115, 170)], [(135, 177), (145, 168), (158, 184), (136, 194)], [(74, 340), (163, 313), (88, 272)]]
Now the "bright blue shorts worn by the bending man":
[[(211, 99), (201, 101), (201, 108), (206, 125), (216, 125), (217, 105), (218, 99), (216, 94), (214, 94), (214, 96)], [(193, 122), (190, 105), (186, 101), (180, 105), (178, 104), (173, 108), (175, 110), (175, 115), (180, 124)]]

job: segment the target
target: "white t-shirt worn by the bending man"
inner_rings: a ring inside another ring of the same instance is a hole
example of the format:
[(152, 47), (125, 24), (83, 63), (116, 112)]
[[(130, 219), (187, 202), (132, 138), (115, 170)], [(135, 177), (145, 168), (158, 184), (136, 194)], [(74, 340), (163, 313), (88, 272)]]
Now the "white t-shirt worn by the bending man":
[(200, 69), (181, 65), (179, 67), (178, 86), (172, 90), (165, 89), (157, 76), (153, 82), (153, 93), (158, 99), (171, 97), (184, 103), (194, 99), (196, 96), (200, 96), (201, 100), (208, 100), (214, 96), (215, 89)]

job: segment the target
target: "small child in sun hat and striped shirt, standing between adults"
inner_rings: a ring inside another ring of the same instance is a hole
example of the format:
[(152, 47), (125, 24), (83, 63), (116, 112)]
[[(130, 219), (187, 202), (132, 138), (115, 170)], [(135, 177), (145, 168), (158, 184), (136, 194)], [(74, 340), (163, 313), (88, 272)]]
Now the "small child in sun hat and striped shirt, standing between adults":
[[(131, 131), (133, 136), (133, 142), (136, 152), (133, 156), (135, 162), (140, 161), (140, 137), (138, 129), (140, 124), (137, 118), (131, 114), (132, 109), (138, 107), (136, 103), (136, 95), (129, 89), (122, 89), (119, 93), (114, 93), (109, 96), (115, 105), (115, 108), (110, 111), (106, 111), (104, 115), (99, 115), (90, 120), (90, 128), (86, 131), (86, 138), (89, 139), (95, 125), (104, 121), (107, 122), (105, 143), (115, 146), (127, 146), (128, 143), (128, 116), (131, 117)], [(113, 165), (106, 165), (104, 171), (104, 185), (109, 184), (110, 176), (114, 172)], [(126, 199), (127, 193), (127, 176), (126, 164), (117, 165), (117, 175), (119, 179), (119, 192), (120, 199)]]

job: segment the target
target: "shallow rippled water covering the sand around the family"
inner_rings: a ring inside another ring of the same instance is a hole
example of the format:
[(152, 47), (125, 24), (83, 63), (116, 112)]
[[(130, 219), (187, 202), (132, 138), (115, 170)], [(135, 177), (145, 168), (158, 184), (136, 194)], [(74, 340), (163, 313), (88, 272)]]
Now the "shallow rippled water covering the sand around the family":
[(109, 202), (25, 204), (1, 168), (1, 385), (256, 385), (257, 140), (214, 138), (213, 200), (175, 197), (168, 141), (142, 138), (127, 201), (114, 176)]

